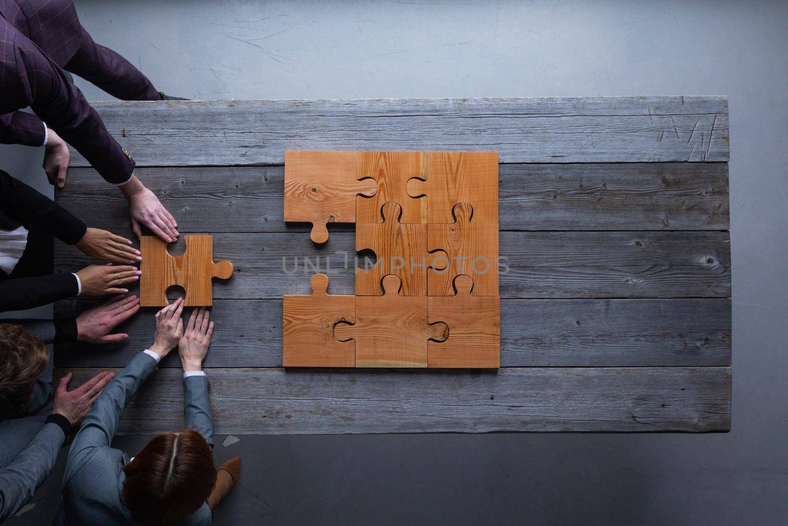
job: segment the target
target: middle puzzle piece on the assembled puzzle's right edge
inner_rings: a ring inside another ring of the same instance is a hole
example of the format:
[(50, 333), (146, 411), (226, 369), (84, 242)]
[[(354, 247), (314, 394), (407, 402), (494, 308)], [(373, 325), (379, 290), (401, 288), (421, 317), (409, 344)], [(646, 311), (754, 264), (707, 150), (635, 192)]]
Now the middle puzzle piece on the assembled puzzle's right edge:
[(427, 226), (427, 248), (448, 254), (448, 269), (427, 270), (428, 296), (452, 296), (459, 274), (473, 278), (474, 296), (498, 296), (498, 224), (477, 222), (468, 203), (454, 206), (455, 222)]

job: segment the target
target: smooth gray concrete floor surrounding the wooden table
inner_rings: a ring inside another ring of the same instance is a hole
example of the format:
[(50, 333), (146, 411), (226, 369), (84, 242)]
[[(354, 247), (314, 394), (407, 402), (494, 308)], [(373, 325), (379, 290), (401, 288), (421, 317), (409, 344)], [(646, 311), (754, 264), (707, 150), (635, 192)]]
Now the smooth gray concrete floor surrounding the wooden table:
[[(786, 524), (785, 2), (77, 2), (96, 41), (192, 99), (728, 95), (733, 430), (242, 436), (216, 524)], [(77, 80), (89, 99), (102, 91)], [(0, 149), (41, 181), (40, 151)], [(125, 437), (133, 452), (147, 437)], [(43, 524), (62, 461), (35, 507)]]

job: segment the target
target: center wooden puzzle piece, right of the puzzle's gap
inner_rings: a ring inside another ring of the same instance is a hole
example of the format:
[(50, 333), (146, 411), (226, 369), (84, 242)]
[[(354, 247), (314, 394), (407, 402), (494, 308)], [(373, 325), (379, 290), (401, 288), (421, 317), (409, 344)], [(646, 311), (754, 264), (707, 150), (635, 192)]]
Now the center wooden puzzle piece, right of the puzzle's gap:
[(385, 203), (384, 222), (356, 223), (355, 249), (370, 249), (377, 256), (371, 269), (356, 268), (356, 296), (380, 296), (381, 279), (388, 274), (400, 277), (403, 296), (426, 296), (427, 269), (446, 268), (446, 252), (427, 252), (428, 225), (402, 223), (400, 211), (398, 203)]

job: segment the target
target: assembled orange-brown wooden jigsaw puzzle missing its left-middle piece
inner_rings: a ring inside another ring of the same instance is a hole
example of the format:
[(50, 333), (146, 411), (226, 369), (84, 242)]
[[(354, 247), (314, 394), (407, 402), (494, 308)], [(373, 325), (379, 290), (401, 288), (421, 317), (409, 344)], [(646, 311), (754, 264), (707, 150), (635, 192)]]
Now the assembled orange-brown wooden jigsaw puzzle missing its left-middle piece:
[(284, 367), (500, 367), (498, 155), (288, 151), (284, 220), (355, 223), (355, 296), (284, 296)]

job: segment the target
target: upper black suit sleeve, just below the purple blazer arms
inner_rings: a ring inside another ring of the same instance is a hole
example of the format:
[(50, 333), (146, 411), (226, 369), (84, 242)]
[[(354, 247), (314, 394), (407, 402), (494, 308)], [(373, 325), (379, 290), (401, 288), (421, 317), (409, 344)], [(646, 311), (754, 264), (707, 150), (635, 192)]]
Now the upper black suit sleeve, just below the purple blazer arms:
[(68, 244), (80, 241), (87, 230), (84, 222), (65, 208), (2, 170), (0, 210), (23, 225), (38, 226)]

